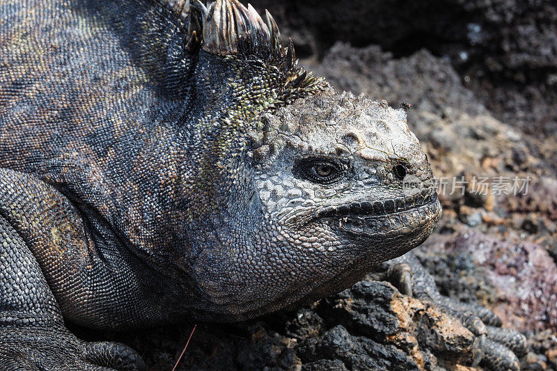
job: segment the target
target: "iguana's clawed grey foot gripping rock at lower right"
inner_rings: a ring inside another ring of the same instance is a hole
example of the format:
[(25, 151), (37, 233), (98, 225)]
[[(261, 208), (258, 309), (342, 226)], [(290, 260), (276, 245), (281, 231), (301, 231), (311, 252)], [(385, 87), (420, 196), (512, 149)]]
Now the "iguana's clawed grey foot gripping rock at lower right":
[(520, 370), (518, 356), (526, 354), (526, 338), (521, 333), (501, 328), (501, 319), (478, 304), (460, 303), (439, 294), (432, 276), (408, 253), (391, 260), (386, 278), (402, 294), (427, 301), (448, 315), (460, 319), (477, 338), (473, 343), (473, 365), (492, 371)]

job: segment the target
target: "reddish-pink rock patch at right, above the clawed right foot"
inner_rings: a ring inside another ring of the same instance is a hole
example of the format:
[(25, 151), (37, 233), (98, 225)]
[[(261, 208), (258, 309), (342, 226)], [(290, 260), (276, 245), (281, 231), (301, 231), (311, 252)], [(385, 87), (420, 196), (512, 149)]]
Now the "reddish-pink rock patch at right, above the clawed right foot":
[(549, 253), (531, 242), (512, 242), (469, 230), (436, 235), (427, 248), (469, 253), (496, 289), (492, 306), (504, 326), (520, 331), (557, 331), (557, 266)]

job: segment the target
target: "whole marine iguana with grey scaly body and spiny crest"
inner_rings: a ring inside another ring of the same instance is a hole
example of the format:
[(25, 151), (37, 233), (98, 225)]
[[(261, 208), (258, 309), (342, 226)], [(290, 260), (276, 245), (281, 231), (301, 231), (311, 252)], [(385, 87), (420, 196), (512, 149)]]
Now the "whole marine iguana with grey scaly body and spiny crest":
[(256, 317), (432, 232), (405, 109), (298, 68), (266, 18), (237, 0), (0, 1), (1, 370), (141, 369), (65, 323)]

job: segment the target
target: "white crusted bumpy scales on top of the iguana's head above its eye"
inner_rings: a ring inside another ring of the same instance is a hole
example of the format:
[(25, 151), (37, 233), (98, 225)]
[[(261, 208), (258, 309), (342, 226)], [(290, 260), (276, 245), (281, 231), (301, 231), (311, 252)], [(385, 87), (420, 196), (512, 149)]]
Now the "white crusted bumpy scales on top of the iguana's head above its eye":
[[(311, 103), (311, 104), (308, 104)], [(373, 102), (365, 94), (317, 93), (306, 100), (292, 102), (274, 113), (266, 113), (265, 127), (250, 132), (253, 147), (260, 148), (259, 159), (269, 154), (269, 143), (291, 145), (302, 151), (334, 155), (357, 153), (363, 159), (391, 161), (418, 152), (419, 141), (407, 125), (407, 112)], [(330, 139), (327, 141), (327, 139)]]

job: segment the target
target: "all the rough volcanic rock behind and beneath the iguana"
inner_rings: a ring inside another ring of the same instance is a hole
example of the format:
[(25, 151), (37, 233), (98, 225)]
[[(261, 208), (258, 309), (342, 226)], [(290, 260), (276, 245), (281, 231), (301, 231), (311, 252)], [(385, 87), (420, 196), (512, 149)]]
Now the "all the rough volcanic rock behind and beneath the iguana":
[[(418, 258), (442, 294), (492, 308), (527, 336), (522, 370), (557, 370), (556, 3), (254, 5), (276, 15), (301, 63), (336, 88), (413, 104), (409, 127), (447, 180), (444, 218)], [(512, 194), (515, 177), (529, 179), (527, 194)], [(178, 370), (472, 370), (469, 333), (444, 333), (443, 313), (371, 279), (295, 313), (200, 324)], [(109, 336), (169, 371), (192, 326)]]

